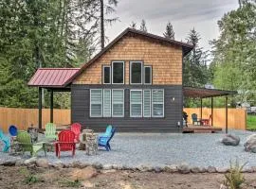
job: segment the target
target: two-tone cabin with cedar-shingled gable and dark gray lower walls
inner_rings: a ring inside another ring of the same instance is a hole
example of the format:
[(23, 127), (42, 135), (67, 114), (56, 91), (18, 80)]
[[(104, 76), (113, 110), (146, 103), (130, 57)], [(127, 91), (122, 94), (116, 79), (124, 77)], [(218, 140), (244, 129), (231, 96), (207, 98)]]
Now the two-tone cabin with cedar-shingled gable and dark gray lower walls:
[[(28, 86), (38, 87), (39, 93), (48, 89), (51, 102), (55, 91), (70, 91), (71, 121), (84, 129), (102, 131), (111, 124), (119, 131), (180, 132), (184, 94), (198, 94), (183, 86), (183, 58), (192, 49), (188, 43), (127, 28), (81, 68), (38, 69)], [(199, 97), (229, 94), (203, 92)]]

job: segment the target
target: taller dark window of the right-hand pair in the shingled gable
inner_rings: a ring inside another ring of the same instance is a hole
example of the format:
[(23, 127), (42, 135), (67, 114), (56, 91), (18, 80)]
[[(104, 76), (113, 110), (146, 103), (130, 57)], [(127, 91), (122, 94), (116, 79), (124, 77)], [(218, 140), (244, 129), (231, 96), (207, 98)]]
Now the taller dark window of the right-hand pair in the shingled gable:
[(130, 83), (142, 84), (142, 62), (141, 61), (130, 62)]

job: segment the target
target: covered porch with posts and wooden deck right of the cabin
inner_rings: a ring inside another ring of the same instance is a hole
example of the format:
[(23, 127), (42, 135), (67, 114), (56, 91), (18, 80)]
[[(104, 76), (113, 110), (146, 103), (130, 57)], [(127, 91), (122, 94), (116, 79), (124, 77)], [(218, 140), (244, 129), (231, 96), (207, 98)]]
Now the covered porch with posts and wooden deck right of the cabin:
[[(200, 100), (200, 113), (197, 117), (198, 123), (196, 126), (193, 124), (188, 124), (187, 127), (182, 129), (182, 132), (217, 132), (222, 131), (222, 128), (214, 127), (213, 119), (214, 119), (214, 97), (225, 97), (225, 132), (229, 132), (229, 108), (228, 108), (228, 99), (229, 95), (237, 94), (234, 91), (225, 91), (218, 89), (206, 89), (206, 88), (195, 88), (195, 87), (183, 87), (183, 95), (184, 97), (189, 97), (193, 99)], [(203, 118), (203, 100), (206, 98), (210, 98), (210, 117)], [(209, 124), (204, 125), (203, 123), (209, 122)]]

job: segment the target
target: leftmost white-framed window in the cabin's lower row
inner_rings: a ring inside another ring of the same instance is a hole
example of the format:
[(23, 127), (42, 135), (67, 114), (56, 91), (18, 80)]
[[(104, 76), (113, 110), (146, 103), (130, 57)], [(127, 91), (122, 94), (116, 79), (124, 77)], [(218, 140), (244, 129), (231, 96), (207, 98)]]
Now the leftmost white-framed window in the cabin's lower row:
[(102, 90), (91, 89), (90, 93), (90, 117), (102, 116)]

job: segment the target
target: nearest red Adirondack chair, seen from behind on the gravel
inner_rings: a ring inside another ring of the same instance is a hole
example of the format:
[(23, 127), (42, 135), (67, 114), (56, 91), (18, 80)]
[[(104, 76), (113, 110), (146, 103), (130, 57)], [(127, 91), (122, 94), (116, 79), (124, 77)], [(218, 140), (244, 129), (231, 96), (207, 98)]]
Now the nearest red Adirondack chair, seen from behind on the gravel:
[(75, 133), (71, 130), (63, 130), (58, 137), (59, 139), (55, 143), (56, 156), (60, 158), (61, 151), (72, 151), (72, 157), (74, 157), (76, 150)]

